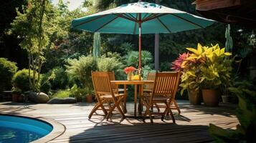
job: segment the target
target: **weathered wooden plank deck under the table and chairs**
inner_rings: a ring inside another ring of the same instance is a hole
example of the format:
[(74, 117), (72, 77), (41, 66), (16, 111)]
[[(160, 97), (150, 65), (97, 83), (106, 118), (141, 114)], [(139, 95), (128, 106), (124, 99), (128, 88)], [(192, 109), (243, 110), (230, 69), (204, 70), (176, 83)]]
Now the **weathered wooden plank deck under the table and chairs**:
[[(126, 118), (120, 122), (115, 115), (109, 122), (101, 115), (87, 116), (94, 104), (14, 104), (0, 103), (1, 114), (19, 114), (29, 117), (52, 119), (65, 125), (65, 132), (50, 142), (212, 142), (207, 131), (209, 123), (226, 129), (235, 128), (238, 124), (234, 116), (235, 107), (220, 104), (219, 107), (191, 106), (178, 101), (181, 115), (174, 114), (176, 124), (171, 119), (161, 122), (149, 119)], [(129, 103), (128, 112), (133, 111)], [(99, 112), (100, 113), (100, 112)], [(174, 113), (177, 113), (174, 110)]]

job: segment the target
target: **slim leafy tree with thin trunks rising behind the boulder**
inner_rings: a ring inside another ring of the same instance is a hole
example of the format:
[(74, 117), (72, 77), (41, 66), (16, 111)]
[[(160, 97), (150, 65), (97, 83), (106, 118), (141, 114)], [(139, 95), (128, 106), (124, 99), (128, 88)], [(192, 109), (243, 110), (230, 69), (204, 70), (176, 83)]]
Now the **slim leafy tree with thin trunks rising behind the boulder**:
[(32, 91), (39, 90), (44, 50), (52, 46), (49, 42), (51, 9), (52, 6), (48, 0), (29, 0), (28, 5), (23, 6), (22, 12), (17, 11), (16, 19), (11, 24), (11, 31), (18, 33), (22, 38), (19, 45), (27, 51), (29, 56), (29, 84)]

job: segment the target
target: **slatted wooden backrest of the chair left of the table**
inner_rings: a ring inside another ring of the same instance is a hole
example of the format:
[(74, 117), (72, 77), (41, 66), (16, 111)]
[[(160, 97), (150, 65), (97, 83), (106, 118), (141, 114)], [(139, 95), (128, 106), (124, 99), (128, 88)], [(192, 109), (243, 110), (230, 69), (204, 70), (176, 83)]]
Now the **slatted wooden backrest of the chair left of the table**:
[(92, 79), (96, 95), (113, 94), (109, 72), (92, 71)]

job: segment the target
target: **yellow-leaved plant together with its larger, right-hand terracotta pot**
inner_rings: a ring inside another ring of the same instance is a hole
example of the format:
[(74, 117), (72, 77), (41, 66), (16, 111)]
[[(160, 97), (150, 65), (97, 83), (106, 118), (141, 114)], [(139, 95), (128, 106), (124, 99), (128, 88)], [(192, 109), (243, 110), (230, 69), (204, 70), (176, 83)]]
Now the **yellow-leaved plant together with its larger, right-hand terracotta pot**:
[(224, 50), (218, 44), (212, 47), (204, 46), (204, 56), (207, 60), (201, 68), (201, 87), (204, 104), (207, 106), (219, 104), (219, 87), (229, 81), (232, 68), (227, 56), (231, 54)]

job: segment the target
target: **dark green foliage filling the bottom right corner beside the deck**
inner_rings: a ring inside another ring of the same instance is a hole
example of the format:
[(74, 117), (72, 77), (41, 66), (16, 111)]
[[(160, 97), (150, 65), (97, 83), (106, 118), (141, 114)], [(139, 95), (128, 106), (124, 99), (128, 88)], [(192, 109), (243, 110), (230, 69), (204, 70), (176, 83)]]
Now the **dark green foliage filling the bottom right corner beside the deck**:
[(237, 129), (222, 129), (210, 124), (209, 132), (217, 142), (255, 142), (256, 136), (256, 92), (248, 89), (229, 88), (239, 98)]

